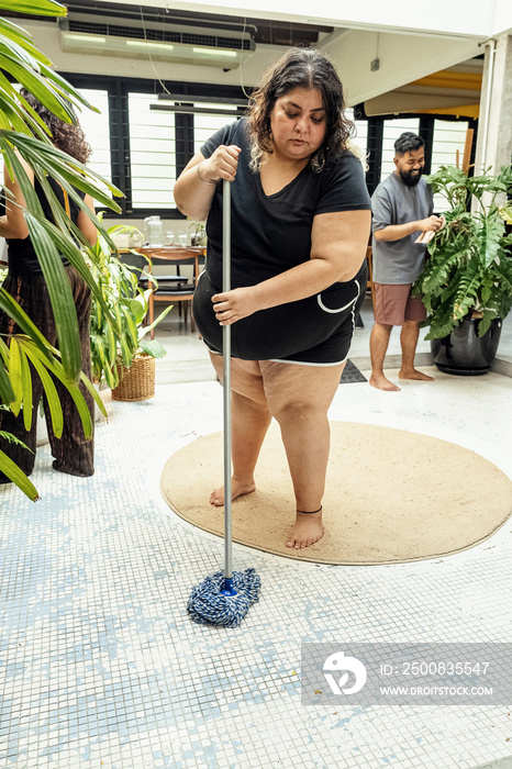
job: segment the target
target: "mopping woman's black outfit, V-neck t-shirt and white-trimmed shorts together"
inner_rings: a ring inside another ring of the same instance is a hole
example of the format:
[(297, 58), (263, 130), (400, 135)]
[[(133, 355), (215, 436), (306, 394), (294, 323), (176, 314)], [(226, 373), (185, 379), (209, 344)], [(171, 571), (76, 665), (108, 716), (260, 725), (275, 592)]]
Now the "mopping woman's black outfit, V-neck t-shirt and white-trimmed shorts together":
[[(259, 174), (249, 168), (247, 121), (219, 131), (202, 147), (204, 157), (221, 145), (241, 147), (232, 182), (231, 286), (256, 283), (309, 261), (316, 214), (368, 210), (363, 166), (353, 153), (315, 172), (309, 166), (276, 194), (265, 194)], [(193, 297), (193, 315), (204, 342), (222, 352), (223, 333), (212, 297), (222, 290), (222, 185), (207, 222), (207, 268)], [(366, 261), (353, 280), (318, 294), (259, 310), (231, 326), (232, 356), (246, 360), (334, 366), (345, 360), (355, 317), (366, 290)]]

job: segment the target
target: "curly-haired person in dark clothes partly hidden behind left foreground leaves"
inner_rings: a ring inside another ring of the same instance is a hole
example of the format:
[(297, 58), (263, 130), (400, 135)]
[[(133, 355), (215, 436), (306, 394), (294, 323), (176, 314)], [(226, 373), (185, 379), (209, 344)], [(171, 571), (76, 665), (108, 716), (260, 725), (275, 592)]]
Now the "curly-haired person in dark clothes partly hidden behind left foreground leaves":
[[(91, 154), (91, 147), (86, 142), (81, 127), (77, 124), (68, 124), (56, 118), (48, 109), (24, 89), (21, 91), (22, 98), (40, 115), (48, 126), (52, 134), (53, 144), (63, 152), (86, 163)], [(34, 175), (33, 169), (19, 155), (29, 179), (34, 186), (34, 190), (41, 202), (44, 215), (48, 221), (54, 222), (49, 202)], [(63, 209), (66, 210), (73, 222), (84, 233), (86, 238), (94, 244), (97, 230), (87, 214), (69, 198), (60, 185), (48, 177), (48, 182), (55, 192)], [(37, 259), (37, 254), (29, 235), (29, 227), (23, 214), (26, 203), (16, 179), (11, 178), (8, 168), (4, 168), (4, 187), (10, 192), (5, 202), (5, 214), (0, 216), (0, 236), (7, 238), (8, 244), (8, 275), (2, 287), (8, 291), (26, 312), (29, 317), (35, 323), (46, 339), (54, 346), (58, 346), (55, 321), (49, 301), (46, 281)], [(92, 198), (77, 190), (84, 202), (93, 211)], [(71, 290), (77, 310), (78, 326), (80, 332), (80, 349), (82, 371), (90, 378), (90, 336), (89, 336), (89, 314), (91, 297), (88, 286), (80, 277), (73, 265), (67, 263), (63, 256), (67, 278), (71, 285)], [(14, 324), (5, 313), (0, 312), (0, 335), (9, 339), (12, 334), (20, 333), (21, 330)], [(37, 406), (43, 394), (41, 379), (32, 374), (32, 402), (33, 415), (32, 425), (25, 430), (23, 415), (19, 416), (10, 411), (0, 411), (0, 431), (4, 431), (20, 438), (26, 446), (7, 442), (0, 438), (0, 448), (16, 462), (25, 472), (31, 475), (34, 468), (36, 449), (36, 415)], [(60, 400), (64, 415), (64, 428), (60, 438), (54, 435), (48, 405), (43, 399), (48, 438), (54, 457), (53, 467), (60, 472), (73, 476), (88, 477), (94, 472), (94, 446), (92, 439), (86, 439), (78, 410), (68, 390), (54, 378), (54, 383)], [(93, 399), (89, 391), (80, 384), (80, 390), (87, 401), (91, 415), (93, 414)], [(10, 482), (10, 479), (0, 473), (0, 483)]]

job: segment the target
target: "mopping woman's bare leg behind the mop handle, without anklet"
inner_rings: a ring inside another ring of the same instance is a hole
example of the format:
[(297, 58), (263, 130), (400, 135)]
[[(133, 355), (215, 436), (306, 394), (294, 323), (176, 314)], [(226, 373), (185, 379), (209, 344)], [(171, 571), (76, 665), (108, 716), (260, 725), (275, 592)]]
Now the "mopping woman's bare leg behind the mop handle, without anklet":
[[(211, 356), (219, 377), (222, 379), (223, 358)], [(232, 499), (249, 494), (256, 489), (254, 469), (259, 449), (271, 422), (266, 404), (263, 380), (256, 361), (232, 360), (231, 369), (231, 416), (232, 416)], [(224, 487), (214, 489), (210, 504), (224, 504)]]

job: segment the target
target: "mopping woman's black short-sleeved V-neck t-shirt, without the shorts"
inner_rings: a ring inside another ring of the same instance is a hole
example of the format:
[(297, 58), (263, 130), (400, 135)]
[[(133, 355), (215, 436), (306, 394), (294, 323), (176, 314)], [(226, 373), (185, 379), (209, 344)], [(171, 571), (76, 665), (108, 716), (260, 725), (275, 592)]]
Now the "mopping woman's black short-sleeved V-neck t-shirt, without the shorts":
[[(232, 288), (255, 286), (310, 259), (313, 218), (335, 211), (369, 210), (370, 199), (358, 158), (346, 152), (320, 172), (307, 166), (282, 190), (265, 194), (259, 174), (249, 168), (247, 120), (226, 125), (201, 147), (210, 157), (220, 145), (242, 152), (232, 182)], [(222, 287), (222, 183), (207, 222), (207, 274)]]

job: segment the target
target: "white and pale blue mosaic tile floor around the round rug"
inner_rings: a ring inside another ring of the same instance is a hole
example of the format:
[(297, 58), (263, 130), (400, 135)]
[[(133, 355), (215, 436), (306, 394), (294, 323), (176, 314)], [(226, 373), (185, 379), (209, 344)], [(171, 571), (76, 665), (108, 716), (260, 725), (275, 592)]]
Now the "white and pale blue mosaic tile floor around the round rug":
[[(511, 380), (435, 376), (399, 394), (342, 386), (332, 417), (455, 441), (512, 477)], [(261, 600), (237, 629), (201, 627), (186, 602), (222, 566), (222, 540), (172, 515), (159, 476), (221, 428), (221, 388), (160, 384), (109, 410), (92, 478), (54, 472), (44, 447), (41, 502), (0, 489), (2, 769), (470, 769), (512, 754), (510, 709), (304, 707), (299, 676), (301, 640), (510, 640), (510, 521), (477, 548), (401, 566), (235, 546)]]

